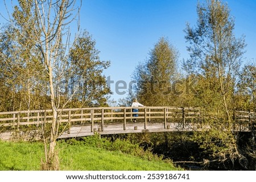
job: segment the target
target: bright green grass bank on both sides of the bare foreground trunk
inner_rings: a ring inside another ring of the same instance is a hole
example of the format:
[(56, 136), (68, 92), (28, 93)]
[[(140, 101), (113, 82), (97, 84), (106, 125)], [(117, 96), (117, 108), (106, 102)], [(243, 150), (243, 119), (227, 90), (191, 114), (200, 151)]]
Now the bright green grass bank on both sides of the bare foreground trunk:
[[(68, 171), (169, 171), (180, 170), (170, 162), (142, 159), (139, 156), (109, 151), (82, 143), (58, 142), (61, 170)], [(0, 170), (40, 170), (43, 143), (0, 141)]]

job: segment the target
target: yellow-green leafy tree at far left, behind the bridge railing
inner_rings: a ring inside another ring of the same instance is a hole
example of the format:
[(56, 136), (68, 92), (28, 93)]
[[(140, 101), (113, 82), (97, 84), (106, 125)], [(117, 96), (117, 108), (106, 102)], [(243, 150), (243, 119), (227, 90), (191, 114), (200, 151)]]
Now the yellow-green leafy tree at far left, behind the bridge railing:
[(3, 111), (46, 108), (46, 86), (42, 81), (46, 77), (32, 33), (35, 22), (35, 16), (31, 13), (32, 1), (19, 3), (23, 11), (15, 6), (13, 19), (1, 27), (2, 73), (5, 87), (12, 95), (11, 100), (5, 97), (6, 101), (3, 101), (10, 103), (11, 108), (6, 105)]

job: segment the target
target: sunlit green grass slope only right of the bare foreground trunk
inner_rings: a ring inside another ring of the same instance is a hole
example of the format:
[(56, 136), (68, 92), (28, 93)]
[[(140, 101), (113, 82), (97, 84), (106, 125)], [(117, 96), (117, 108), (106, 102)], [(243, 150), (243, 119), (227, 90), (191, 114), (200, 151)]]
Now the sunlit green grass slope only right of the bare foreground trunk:
[[(67, 153), (73, 153), (69, 158)], [(161, 171), (176, 170), (171, 164), (148, 161), (133, 155), (125, 155), (118, 151), (106, 151), (105, 149), (95, 149), (92, 147), (73, 147), (71, 150), (63, 150), (60, 156), (63, 164), (62, 170), (135, 170), (135, 171)]]

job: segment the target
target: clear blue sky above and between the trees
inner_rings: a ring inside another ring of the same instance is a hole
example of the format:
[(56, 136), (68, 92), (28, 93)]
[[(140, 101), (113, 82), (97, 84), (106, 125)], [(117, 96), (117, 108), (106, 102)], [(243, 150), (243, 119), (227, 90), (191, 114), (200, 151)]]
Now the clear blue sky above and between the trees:
[[(256, 1), (224, 1), (228, 2), (230, 14), (235, 18), (236, 36), (246, 36), (245, 61), (254, 58), (255, 62)], [(0, 2), (2, 12), (5, 7), (3, 0)], [(176, 47), (180, 54), (179, 62), (188, 58), (183, 30), (187, 22), (195, 26), (196, 5), (197, 0), (82, 0), (81, 29), (86, 29), (96, 40), (101, 60), (111, 61), (104, 74), (114, 81), (111, 84), (114, 100), (126, 97), (115, 92), (115, 84), (125, 81), (128, 87), (135, 66), (146, 60), (160, 37), (168, 37)]]

